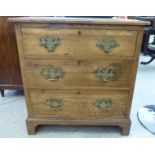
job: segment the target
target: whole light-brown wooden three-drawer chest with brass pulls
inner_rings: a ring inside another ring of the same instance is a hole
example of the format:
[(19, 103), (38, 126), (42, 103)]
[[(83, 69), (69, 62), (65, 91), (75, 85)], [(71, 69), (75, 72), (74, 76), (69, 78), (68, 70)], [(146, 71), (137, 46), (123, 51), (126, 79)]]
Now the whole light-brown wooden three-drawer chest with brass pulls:
[(127, 135), (143, 21), (12, 18), (28, 109), (38, 125), (113, 125)]

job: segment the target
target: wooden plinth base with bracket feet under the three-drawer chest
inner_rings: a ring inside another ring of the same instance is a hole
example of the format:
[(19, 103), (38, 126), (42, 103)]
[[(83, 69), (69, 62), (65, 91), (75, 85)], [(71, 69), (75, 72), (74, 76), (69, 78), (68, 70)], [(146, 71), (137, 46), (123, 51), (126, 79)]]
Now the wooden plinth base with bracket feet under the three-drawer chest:
[(40, 125), (83, 125), (83, 126), (119, 126), (122, 135), (127, 136), (130, 132), (130, 119), (63, 119), (63, 118), (27, 118), (28, 134), (34, 135)]

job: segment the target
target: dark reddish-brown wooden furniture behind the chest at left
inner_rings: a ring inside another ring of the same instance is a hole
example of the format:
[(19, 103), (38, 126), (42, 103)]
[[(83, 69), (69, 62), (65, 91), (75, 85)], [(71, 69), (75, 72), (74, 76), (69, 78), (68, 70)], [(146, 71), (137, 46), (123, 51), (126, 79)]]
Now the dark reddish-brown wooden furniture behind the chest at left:
[(0, 17), (0, 90), (22, 89), (15, 31), (8, 16)]

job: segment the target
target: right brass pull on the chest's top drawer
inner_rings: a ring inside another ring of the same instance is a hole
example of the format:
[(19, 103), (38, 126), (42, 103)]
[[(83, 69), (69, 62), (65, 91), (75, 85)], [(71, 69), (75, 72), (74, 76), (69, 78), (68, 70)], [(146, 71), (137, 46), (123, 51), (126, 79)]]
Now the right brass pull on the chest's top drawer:
[(118, 47), (119, 44), (114, 39), (102, 39), (97, 42), (96, 46), (100, 48), (103, 52), (109, 53), (114, 48)]

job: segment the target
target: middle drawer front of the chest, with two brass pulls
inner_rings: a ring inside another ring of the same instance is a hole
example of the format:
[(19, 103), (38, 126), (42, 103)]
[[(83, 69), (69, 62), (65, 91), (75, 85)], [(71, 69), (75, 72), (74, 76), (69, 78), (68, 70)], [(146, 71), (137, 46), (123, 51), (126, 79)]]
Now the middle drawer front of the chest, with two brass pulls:
[(131, 61), (25, 60), (29, 88), (128, 88)]

